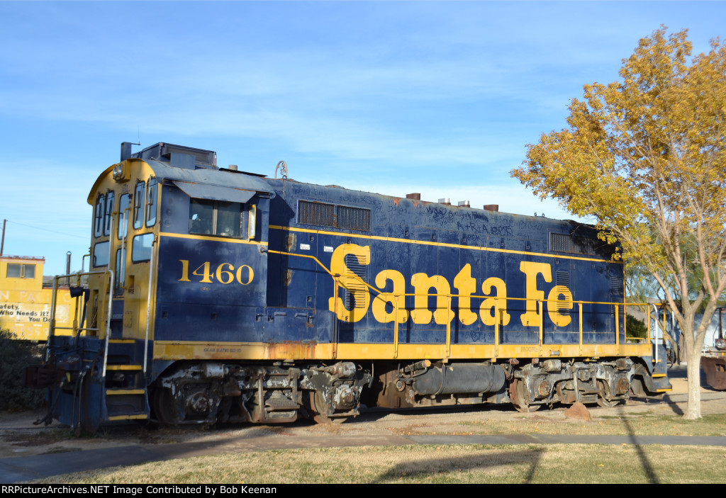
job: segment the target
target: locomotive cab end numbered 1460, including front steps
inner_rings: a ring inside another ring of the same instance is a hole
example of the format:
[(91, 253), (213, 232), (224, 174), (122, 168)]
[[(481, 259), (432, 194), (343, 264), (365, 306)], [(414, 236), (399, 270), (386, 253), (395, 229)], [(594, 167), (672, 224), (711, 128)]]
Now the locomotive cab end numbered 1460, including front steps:
[(148, 418), (150, 383), (195, 357), (175, 346), (180, 338), (208, 344), (214, 330), (227, 331), (217, 341), (252, 338), (266, 305), (264, 182), (220, 170), (212, 151), (156, 144), (130, 154), (128, 145), (88, 198), (84, 323), (70, 338), (52, 330), (43, 380), (36, 374), (38, 385), (68, 378), (51, 391), (49, 417), (91, 430)]

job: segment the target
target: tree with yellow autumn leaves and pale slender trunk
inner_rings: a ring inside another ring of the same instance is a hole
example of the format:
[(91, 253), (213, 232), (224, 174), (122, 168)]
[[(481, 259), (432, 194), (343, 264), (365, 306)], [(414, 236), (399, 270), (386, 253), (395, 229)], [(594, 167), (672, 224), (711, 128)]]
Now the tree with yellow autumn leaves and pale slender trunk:
[(512, 172), (594, 217), (618, 257), (653, 274), (685, 337), (689, 419), (701, 417), (701, 349), (726, 288), (726, 46), (691, 50), (687, 30), (640, 40), (621, 79), (584, 86), (568, 128), (527, 146)]

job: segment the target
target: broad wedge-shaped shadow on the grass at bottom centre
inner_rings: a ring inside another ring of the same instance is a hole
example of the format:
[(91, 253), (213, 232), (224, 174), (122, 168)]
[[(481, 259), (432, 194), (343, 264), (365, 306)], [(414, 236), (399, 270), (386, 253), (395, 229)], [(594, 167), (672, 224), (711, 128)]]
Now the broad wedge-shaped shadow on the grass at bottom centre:
[(486, 468), (502, 467), (507, 470), (506, 475), (510, 476), (513, 472), (513, 465), (526, 464), (529, 465), (527, 474), (522, 482), (530, 484), (534, 479), (534, 473), (539, 466), (539, 460), (542, 458), (544, 449), (531, 449), (527, 451), (510, 452), (503, 450), (502, 452), (489, 453), (486, 455), (468, 455), (462, 458), (428, 458), (425, 460), (413, 460), (391, 468), (388, 472), (381, 474), (378, 479), (372, 481), (371, 484), (390, 483), (398, 481), (401, 478), (422, 479), (427, 476), (444, 476), (450, 472), (466, 472), (469, 470), (484, 470)]

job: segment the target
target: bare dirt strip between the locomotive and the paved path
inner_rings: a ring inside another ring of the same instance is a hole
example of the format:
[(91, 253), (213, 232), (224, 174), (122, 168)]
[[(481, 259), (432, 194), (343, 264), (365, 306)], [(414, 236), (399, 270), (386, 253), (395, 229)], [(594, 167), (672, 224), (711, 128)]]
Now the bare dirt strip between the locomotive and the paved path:
[[(615, 416), (625, 412), (648, 411), (662, 415), (680, 415), (685, 410), (687, 383), (685, 366), (669, 370), (673, 391), (661, 402), (629, 400), (617, 408), (590, 407), (594, 417)], [(714, 391), (709, 386), (701, 387), (702, 412), (726, 413), (726, 392)], [(200, 442), (213, 444), (228, 439), (264, 441), (285, 436), (307, 436), (314, 441), (326, 436), (395, 436), (415, 433), (465, 433), (471, 422), (481, 420), (513, 420), (534, 418), (536, 420), (568, 420), (564, 407), (554, 410), (539, 410), (534, 413), (519, 413), (512, 407), (454, 407), (431, 410), (407, 410), (391, 412), (385, 410), (364, 410), (362, 415), (343, 424), (317, 425), (307, 420), (280, 426), (259, 426), (237, 424), (208, 427), (158, 427), (114, 426), (104, 428), (90, 436), (76, 437), (68, 428), (53, 423), (51, 426), (34, 426), (33, 421), (43, 417), (44, 411), (9, 413), (0, 412), (0, 458), (41, 455), (47, 453), (73, 452), (83, 449), (102, 449), (129, 446), (130, 444), (169, 444)]]

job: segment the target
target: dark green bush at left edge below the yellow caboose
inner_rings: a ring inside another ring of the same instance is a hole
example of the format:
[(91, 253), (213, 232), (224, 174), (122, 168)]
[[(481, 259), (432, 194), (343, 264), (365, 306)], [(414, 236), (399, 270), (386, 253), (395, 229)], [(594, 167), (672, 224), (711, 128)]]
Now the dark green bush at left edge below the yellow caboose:
[(23, 369), (41, 362), (45, 348), (14, 337), (11, 331), (0, 330), (0, 407), (3, 410), (41, 407), (45, 390), (23, 386)]

